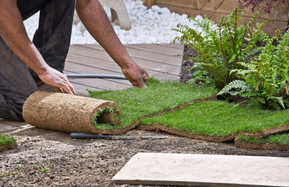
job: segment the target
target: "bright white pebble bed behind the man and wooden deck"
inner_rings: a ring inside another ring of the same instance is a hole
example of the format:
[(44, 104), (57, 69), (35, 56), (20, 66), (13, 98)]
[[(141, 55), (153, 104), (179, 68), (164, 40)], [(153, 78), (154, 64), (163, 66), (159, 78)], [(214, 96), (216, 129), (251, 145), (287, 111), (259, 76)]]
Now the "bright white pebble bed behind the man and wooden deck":
[[(176, 36), (181, 36), (172, 28), (177, 24), (185, 24), (190, 28), (196, 28), (193, 22), (188, 20), (187, 14), (171, 12), (168, 8), (160, 8), (157, 5), (148, 9), (141, 0), (124, 0), (131, 21), (131, 29), (123, 30), (112, 23), (117, 36), (123, 44), (140, 43), (172, 43)], [(110, 8), (104, 7), (108, 17)], [(38, 27), (39, 12), (24, 21), (27, 34), (32, 40), (33, 34)], [(203, 19), (197, 15), (197, 19)], [(80, 31), (80, 23), (73, 25), (70, 44), (97, 44), (88, 31)]]

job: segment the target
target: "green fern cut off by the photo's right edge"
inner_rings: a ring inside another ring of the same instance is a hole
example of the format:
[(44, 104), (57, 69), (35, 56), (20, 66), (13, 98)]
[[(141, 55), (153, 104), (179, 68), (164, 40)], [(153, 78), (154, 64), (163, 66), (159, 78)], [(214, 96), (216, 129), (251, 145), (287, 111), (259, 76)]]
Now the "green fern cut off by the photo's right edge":
[[(231, 71), (241, 75), (244, 81), (238, 81), (238, 85), (232, 81), (218, 94), (249, 97), (249, 104), (262, 109), (289, 108), (289, 32), (281, 35), (276, 31), (272, 38), (265, 33), (262, 36), (266, 46), (260, 55), (251, 62), (238, 62), (245, 70)], [(277, 46), (272, 45), (273, 41), (277, 41)]]

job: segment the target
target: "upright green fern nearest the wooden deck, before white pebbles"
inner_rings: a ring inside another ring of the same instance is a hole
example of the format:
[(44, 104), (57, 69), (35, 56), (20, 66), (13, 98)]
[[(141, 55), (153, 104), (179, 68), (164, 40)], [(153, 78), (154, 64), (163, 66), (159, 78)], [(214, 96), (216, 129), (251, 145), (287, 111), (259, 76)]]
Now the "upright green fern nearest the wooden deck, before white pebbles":
[(230, 71), (242, 69), (238, 62), (248, 62), (259, 50), (256, 42), (261, 33), (260, 28), (270, 21), (257, 23), (256, 28), (251, 30), (256, 17), (260, 16), (260, 12), (256, 11), (247, 24), (238, 27), (239, 22), (244, 19), (241, 13), (241, 9), (235, 8), (232, 14), (222, 16), (217, 25), (206, 16), (202, 21), (191, 17), (190, 21), (194, 21), (199, 29), (191, 29), (182, 24), (178, 24), (179, 29), (173, 29), (183, 34), (175, 40), (186, 43), (200, 53), (197, 57), (187, 57), (195, 62), (195, 66), (200, 65), (200, 71), (194, 78), (196, 81), (212, 82), (216, 87), (223, 88), (229, 82), (241, 78), (239, 74), (230, 74)]

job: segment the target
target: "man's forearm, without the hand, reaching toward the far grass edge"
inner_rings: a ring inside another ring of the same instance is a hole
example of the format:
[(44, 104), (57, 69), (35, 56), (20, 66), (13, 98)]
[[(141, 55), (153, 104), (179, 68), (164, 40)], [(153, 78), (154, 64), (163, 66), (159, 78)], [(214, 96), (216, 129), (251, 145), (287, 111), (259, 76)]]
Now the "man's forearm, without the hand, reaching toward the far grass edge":
[(78, 0), (76, 11), (92, 37), (121, 68), (126, 68), (133, 63), (98, 0)]

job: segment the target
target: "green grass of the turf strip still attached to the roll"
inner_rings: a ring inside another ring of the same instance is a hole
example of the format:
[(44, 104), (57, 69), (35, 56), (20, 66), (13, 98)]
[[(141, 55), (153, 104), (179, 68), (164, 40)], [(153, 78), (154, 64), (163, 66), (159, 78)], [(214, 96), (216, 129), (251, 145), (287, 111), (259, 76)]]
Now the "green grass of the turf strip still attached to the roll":
[(142, 116), (174, 108), (195, 99), (210, 97), (217, 92), (208, 85), (161, 82), (154, 78), (150, 78), (146, 84), (146, 89), (131, 87), (126, 90), (89, 91), (92, 98), (114, 101), (123, 112), (120, 125), (97, 124), (96, 128), (124, 128)]

